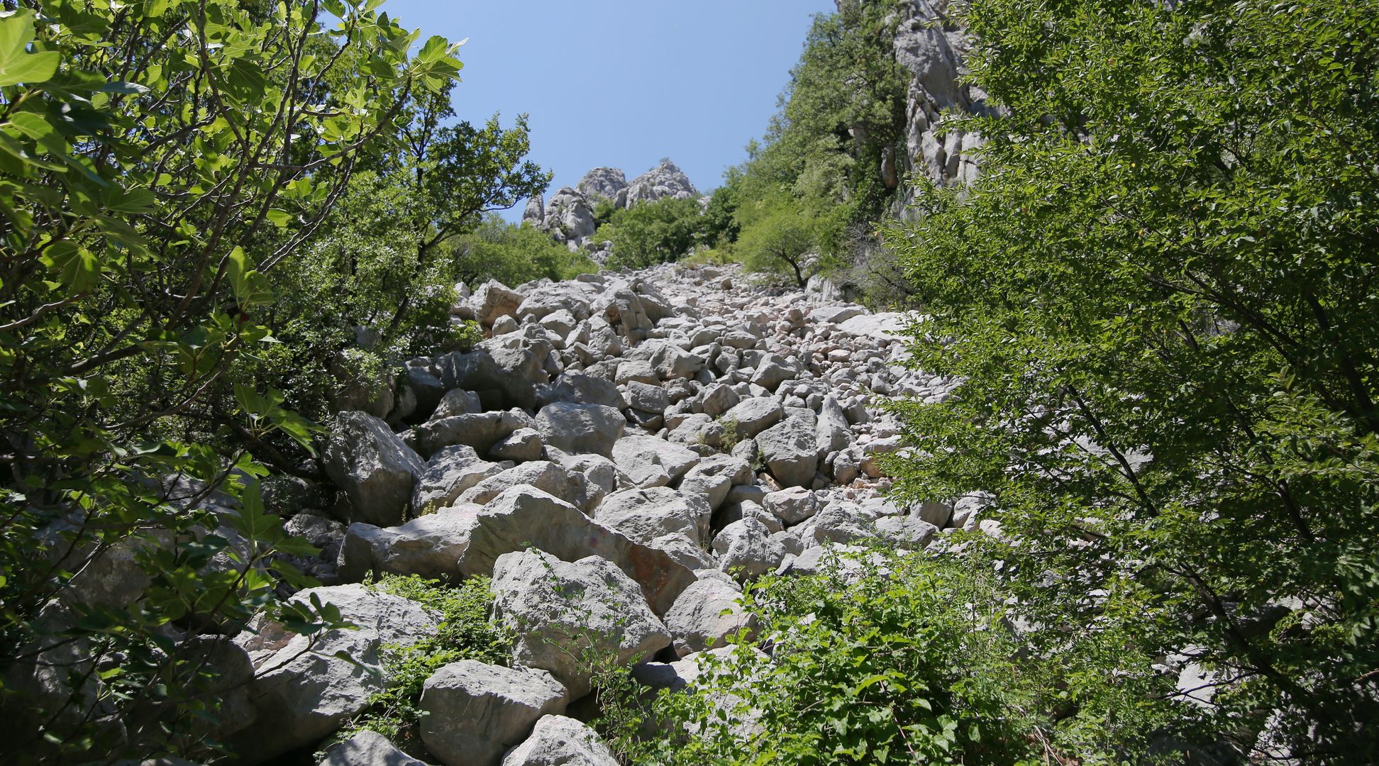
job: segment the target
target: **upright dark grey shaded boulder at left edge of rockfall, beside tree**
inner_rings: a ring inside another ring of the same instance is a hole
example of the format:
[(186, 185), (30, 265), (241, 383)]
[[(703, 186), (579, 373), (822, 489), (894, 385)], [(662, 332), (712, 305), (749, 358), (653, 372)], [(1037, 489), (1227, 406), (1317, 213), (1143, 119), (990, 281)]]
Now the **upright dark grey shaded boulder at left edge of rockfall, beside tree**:
[(325, 475), (345, 493), (338, 513), (346, 521), (385, 526), (405, 518), (412, 485), (426, 470), (387, 423), (363, 412), (342, 412), (331, 422), (324, 464)]

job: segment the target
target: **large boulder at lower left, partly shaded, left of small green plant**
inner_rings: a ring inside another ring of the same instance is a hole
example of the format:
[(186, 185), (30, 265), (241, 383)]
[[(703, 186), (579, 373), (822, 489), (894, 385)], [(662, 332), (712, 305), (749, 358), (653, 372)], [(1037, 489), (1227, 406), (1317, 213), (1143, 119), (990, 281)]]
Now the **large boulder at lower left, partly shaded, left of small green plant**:
[(247, 762), (312, 744), (363, 711), (389, 682), (383, 646), (411, 645), (434, 634), (440, 621), (412, 601), (364, 586), (310, 588), (292, 599), (309, 603), (312, 595), (335, 605), (359, 628), (327, 631), (313, 641), (259, 616), (234, 639), (255, 668), (248, 690), (258, 718), (232, 747)]

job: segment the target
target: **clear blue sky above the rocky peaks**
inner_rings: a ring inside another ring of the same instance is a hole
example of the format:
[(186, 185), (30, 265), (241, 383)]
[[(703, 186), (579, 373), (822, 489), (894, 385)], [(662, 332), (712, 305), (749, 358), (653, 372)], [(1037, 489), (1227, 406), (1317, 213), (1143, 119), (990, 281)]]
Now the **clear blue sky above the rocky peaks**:
[[(527, 113), (550, 192), (598, 165), (630, 180), (670, 157), (701, 192), (760, 138), (815, 12), (833, 0), (386, 0), (461, 48), (459, 118)], [(505, 214), (521, 218), (521, 205)]]

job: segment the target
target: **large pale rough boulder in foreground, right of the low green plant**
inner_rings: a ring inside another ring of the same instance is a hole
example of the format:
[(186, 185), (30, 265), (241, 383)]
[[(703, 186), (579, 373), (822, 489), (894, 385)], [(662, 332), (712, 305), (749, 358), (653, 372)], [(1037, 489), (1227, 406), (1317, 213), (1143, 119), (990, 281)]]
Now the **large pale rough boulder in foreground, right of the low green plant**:
[(543, 551), (503, 554), (492, 590), (499, 621), (516, 635), (513, 660), (550, 671), (572, 697), (589, 692), (579, 663), (586, 649), (632, 664), (670, 645), (637, 583), (594, 555), (565, 562)]

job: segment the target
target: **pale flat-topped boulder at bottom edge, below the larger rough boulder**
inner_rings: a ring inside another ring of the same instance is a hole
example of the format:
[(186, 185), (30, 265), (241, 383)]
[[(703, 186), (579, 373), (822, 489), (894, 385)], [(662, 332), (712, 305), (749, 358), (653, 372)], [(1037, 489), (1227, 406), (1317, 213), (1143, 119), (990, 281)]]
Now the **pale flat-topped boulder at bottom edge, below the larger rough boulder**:
[(565, 687), (546, 671), (461, 660), (426, 679), (422, 743), (445, 766), (496, 766), (543, 715), (565, 712)]

